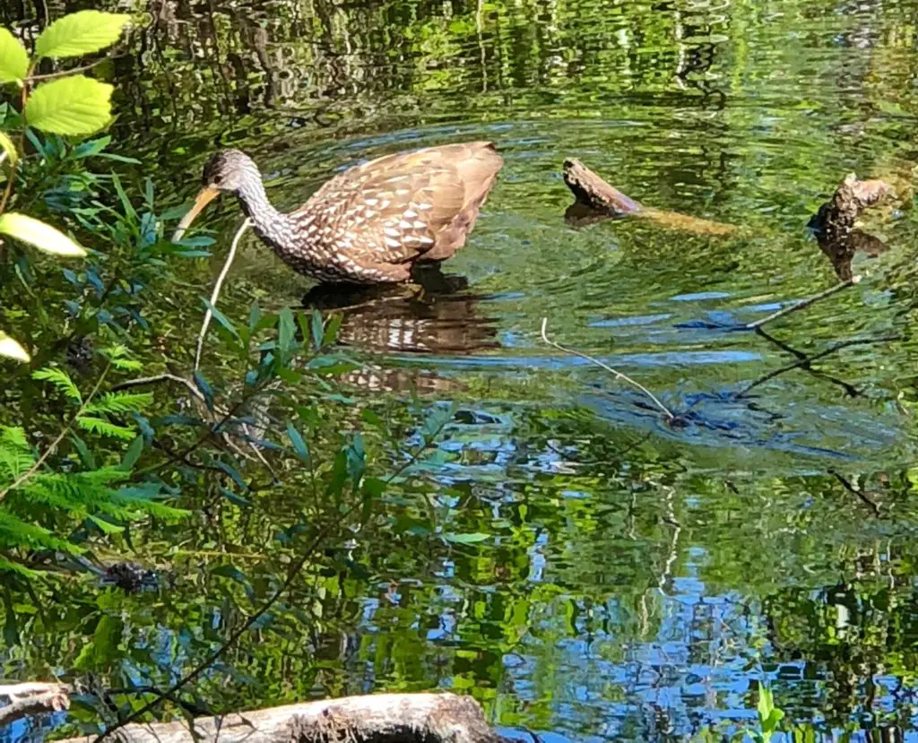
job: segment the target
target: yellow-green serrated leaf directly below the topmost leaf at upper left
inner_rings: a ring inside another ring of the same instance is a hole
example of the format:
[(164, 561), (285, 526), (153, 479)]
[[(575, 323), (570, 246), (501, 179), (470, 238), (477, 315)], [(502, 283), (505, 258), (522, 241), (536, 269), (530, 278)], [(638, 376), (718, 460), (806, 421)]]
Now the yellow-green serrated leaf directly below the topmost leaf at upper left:
[(84, 75), (52, 80), (29, 96), (26, 121), (51, 134), (92, 134), (111, 120), (112, 90)]

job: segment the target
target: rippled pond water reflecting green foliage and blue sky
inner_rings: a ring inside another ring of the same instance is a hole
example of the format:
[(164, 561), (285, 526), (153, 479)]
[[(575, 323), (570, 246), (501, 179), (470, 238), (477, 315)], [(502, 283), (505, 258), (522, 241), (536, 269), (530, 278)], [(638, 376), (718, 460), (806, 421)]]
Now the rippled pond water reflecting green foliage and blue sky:
[[(0, 20), (40, 17), (14, 5)], [(250, 152), (285, 207), (409, 147), (492, 139), (506, 161), (444, 267), (453, 287), (368, 303), (341, 327), (366, 365), (354, 397), (457, 405), (415, 473), (443, 493), (443, 529), (475, 538), (359, 544), (369, 567), (311, 650), (266, 633), (210, 702), (442, 688), (521, 739), (663, 740), (755, 726), (767, 682), (800, 739), (918, 739), (912, 195), (871, 217), (889, 250), (856, 256), (861, 283), (767, 334), (736, 329), (837, 282), (806, 225), (846, 173), (910, 181), (918, 2), (146, 9), (106, 70), (116, 141), (175, 203), (218, 144)], [(572, 226), (568, 157), (646, 205), (741, 230)], [(223, 201), (201, 222), (218, 240), (201, 296), (240, 221)], [(298, 306), (310, 286), (251, 238), (221, 306), (244, 321), (252, 298)], [(543, 318), (681, 425), (543, 343)], [(852, 340), (736, 395), (795, 352)]]

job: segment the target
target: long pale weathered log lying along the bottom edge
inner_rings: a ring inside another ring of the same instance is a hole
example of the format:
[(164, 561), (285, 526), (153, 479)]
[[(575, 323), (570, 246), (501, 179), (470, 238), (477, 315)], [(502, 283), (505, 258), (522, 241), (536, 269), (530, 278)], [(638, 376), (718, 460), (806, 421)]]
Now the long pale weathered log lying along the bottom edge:
[[(129, 725), (127, 743), (504, 743), (478, 703), (453, 693), (370, 694), (186, 722)], [(91, 743), (95, 736), (58, 743)]]

